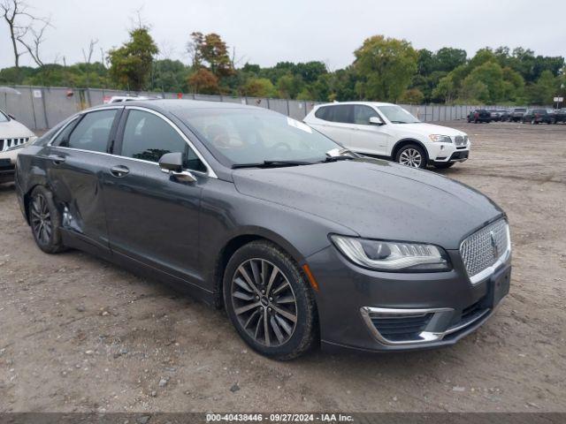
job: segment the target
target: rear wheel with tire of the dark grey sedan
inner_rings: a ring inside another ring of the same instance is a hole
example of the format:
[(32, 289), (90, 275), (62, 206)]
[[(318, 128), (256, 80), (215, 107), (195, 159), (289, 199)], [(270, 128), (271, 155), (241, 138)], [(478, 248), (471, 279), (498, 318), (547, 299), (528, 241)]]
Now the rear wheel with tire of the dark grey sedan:
[(35, 244), (46, 254), (65, 250), (61, 238), (61, 214), (53, 194), (44, 186), (36, 186), (29, 201), (29, 223)]

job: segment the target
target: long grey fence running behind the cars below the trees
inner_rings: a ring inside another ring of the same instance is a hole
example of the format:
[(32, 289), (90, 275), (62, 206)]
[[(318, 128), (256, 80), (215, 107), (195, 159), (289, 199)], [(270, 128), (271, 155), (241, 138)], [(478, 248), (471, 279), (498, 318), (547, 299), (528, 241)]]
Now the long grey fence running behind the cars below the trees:
[[(49, 129), (80, 110), (98, 106), (113, 95), (145, 95), (164, 99), (205, 100), (233, 102), (258, 106), (302, 120), (315, 105), (322, 102), (271, 99), (265, 97), (233, 97), (228, 95), (194, 95), (163, 92), (128, 93), (100, 88), (29, 87), (14, 86), (19, 95), (0, 93), (0, 109), (16, 117), (32, 130)], [(463, 119), (477, 105), (444, 106), (438, 104), (401, 105), (423, 122), (444, 122)]]

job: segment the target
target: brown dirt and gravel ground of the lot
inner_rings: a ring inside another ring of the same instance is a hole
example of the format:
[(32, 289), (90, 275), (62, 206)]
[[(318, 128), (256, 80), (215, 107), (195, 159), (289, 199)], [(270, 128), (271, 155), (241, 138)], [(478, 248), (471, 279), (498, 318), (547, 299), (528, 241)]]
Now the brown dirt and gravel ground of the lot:
[(34, 246), (0, 186), (0, 412), (566, 412), (566, 125), (452, 126), (443, 173), (509, 214), (511, 292), (453, 347), (266, 360), (211, 310), (77, 251)]

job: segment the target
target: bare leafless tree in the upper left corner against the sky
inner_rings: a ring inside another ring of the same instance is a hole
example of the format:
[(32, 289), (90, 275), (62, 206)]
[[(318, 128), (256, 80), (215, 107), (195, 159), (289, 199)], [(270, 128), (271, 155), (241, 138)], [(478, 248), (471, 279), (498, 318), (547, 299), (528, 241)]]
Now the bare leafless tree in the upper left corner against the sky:
[(45, 30), (51, 27), (50, 19), (35, 17), (23, 0), (0, 0), (0, 13), (8, 25), (16, 68), (19, 68), (19, 57), (26, 53), (42, 66), (40, 46), (45, 39)]

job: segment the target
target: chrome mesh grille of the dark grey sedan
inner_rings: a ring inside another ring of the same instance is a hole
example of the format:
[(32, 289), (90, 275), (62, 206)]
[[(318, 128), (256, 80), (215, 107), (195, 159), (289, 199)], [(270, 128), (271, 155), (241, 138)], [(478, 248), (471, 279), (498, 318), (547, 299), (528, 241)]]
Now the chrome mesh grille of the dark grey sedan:
[(473, 276), (491, 267), (509, 248), (509, 224), (504, 219), (490, 223), (463, 240), (460, 254), (472, 282)]

